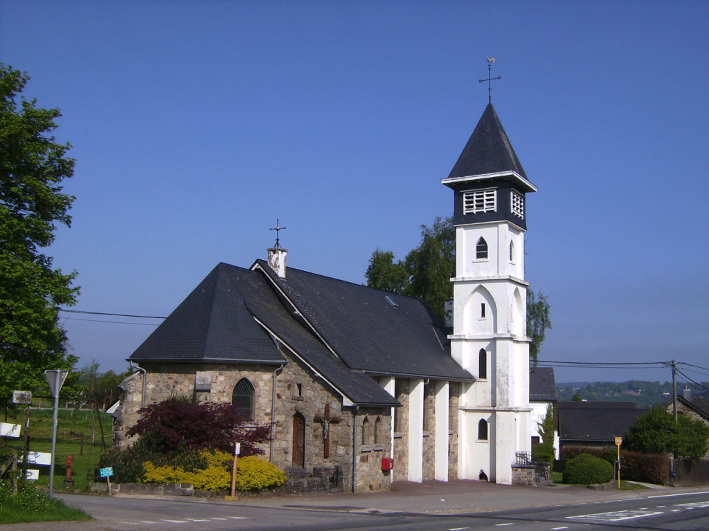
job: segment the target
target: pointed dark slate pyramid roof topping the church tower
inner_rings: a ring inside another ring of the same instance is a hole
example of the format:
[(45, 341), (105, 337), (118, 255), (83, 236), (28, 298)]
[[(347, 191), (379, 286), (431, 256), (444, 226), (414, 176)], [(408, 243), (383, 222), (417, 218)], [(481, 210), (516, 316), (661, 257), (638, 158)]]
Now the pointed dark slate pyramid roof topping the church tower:
[(448, 178), (510, 171), (527, 179), (495, 108), (488, 103)]

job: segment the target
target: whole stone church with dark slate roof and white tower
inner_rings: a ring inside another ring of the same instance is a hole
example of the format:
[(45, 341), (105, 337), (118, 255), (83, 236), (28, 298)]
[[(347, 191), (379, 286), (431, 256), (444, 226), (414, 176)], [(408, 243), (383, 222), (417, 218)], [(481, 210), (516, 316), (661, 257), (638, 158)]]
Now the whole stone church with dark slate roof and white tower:
[[(219, 263), (130, 356), (116, 445), (141, 407), (230, 402), (274, 423), (267, 458), (336, 469), (348, 491), (391, 481), (523, 484), (530, 454), (525, 196), (535, 192), (487, 105), (450, 175), (452, 322), (418, 299), (286, 267)], [(525, 476), (526, 474), (526, 476)]]

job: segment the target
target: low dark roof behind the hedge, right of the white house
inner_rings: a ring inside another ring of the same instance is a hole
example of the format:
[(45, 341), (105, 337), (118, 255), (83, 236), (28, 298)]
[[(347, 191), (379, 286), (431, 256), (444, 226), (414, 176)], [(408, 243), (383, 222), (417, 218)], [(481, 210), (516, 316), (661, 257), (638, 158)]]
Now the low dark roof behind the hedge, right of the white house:
[(559, 402), (559, 440), (613, 443), (644, 413), (647, 409), (637, 409), (635, 402)]

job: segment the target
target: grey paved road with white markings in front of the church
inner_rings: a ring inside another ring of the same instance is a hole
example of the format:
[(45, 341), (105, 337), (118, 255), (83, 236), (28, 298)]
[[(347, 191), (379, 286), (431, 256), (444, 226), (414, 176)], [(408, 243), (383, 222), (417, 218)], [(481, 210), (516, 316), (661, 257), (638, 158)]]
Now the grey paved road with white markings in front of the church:
[[(618, 492), (430, 481), (395, 484), (384, 493), (261, 496), (236, 502), (61, 496), (96, 520), (21, 524), (12, 530), (709, 530), (709, 489)], [(499, 508), (506, 510), (494, 510)]]

